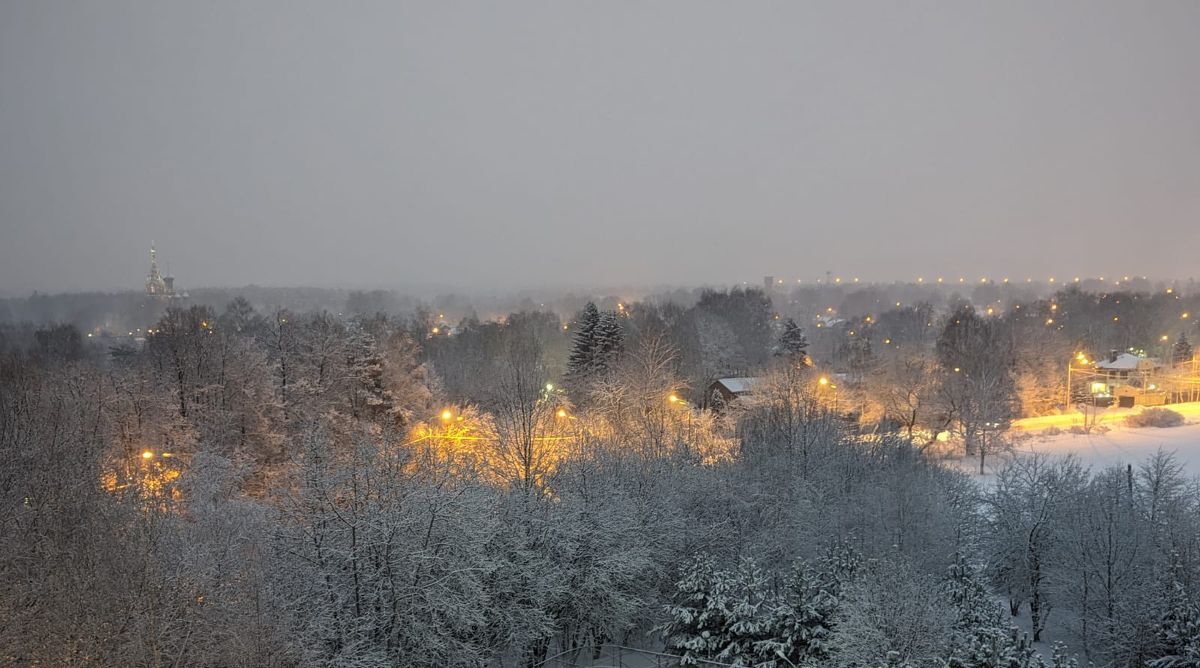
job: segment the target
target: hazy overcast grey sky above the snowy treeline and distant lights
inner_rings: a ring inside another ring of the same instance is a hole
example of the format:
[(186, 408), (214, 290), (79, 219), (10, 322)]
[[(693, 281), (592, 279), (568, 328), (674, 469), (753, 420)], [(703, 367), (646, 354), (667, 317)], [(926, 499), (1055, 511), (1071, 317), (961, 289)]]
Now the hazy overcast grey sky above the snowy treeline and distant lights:
[(1196, 275), (1200, 2), (0, 2), (0, 290)]

